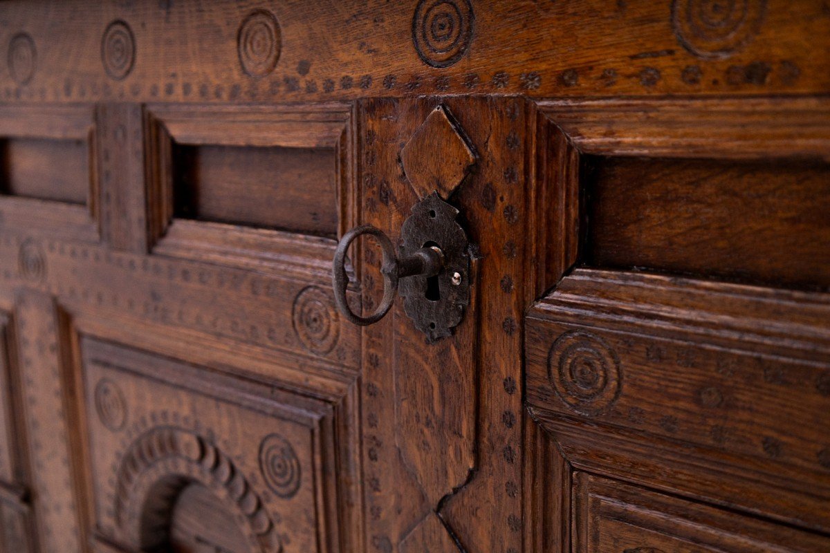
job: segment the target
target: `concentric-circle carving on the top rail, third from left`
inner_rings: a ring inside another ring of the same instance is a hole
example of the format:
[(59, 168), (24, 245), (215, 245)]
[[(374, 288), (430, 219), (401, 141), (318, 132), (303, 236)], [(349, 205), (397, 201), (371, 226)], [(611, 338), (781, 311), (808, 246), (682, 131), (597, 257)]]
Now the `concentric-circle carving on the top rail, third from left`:
[(271, 73), (280, 59), (282, 35), (276, 17), (266, 10), (251, 12), (239, 26), (237, 51), (242, 70), (251, 77)]

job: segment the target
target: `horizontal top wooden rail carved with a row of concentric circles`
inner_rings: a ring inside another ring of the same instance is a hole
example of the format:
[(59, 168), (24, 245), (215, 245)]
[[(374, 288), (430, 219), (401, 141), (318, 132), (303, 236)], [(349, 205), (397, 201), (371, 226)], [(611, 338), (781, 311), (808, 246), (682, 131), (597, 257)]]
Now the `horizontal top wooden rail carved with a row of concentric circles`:
[[(3, 97), (222, 103), (451, 90), (544, 98), (830, 88), (821, 0), (720, 10), (693, 0), (453, 0), (440, 29), (432, 27), (442, 12), (435, 6), (7, 2), (0, 43), (17, 37), (17, 62), (2, 66)], [(53, 20), (66, 22), (60, 35)]]

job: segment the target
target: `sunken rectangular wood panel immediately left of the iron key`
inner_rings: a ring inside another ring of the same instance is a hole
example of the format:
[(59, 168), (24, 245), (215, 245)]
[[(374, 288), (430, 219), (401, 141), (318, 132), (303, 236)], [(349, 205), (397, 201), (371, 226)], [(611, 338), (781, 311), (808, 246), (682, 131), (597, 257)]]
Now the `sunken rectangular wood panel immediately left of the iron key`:
[(178, 145), (174, 156), (177, 217), (337, 233), (334, 148)]

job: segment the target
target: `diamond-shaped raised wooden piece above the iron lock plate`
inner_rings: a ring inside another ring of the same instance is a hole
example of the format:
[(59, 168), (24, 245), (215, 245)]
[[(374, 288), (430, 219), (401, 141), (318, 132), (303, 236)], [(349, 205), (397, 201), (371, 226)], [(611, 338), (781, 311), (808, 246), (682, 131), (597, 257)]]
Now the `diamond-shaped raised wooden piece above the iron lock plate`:
[(476, 163), (476, 154), (449, 109), (439, 105), (401, 150), (401, 163), (419, 198), (435, 191), (446, 200)]

